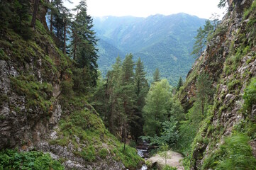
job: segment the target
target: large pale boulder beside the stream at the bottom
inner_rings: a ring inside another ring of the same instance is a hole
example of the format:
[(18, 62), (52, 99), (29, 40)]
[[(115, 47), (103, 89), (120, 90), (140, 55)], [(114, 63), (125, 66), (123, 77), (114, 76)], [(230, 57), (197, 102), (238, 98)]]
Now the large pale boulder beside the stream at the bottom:
[[(173, 151), (167, 152), (167, 165), (169, 166), (176, 167), (178, 170), (184, 170), (181, 162), (182, 159), (182, 154)], [(151, 165), (156, 164), (157, 169), (162, 169), (165, 166), (165, 159), (160, 157), (159, 154), (156, 154), (155, 157), (151, 157), (147, 162), (150, 162)]]

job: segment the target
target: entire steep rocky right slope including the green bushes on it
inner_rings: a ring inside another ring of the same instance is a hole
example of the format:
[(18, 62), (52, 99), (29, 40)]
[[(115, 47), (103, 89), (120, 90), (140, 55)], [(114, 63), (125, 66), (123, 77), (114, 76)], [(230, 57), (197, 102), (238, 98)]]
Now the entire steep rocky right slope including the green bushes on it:
[(201, 72), (207, 72), (216, 87), (213, 106), (193, 143), (191, 169), (255, 169), (256, 2), (228, 4), (228, 13), (179, 94), (189, 109)]

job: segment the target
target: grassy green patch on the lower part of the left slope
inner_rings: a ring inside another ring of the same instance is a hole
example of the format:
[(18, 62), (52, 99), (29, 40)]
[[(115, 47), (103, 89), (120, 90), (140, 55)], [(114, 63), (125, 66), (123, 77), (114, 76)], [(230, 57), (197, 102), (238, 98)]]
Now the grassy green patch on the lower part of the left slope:
[[(59, 138), (50, 141), (50, 144), (65, 147), (71, 142), (75, 148), (73, 153), (86, 162), (94, 162), (96, 157), (106, 159), (110, 156), (111, 159), (122, 162), (128, 169), (136, 169), (143, 161), (136, 149), (126, 145), (126, 150), (123, 151), (123, 144), (106, 130), (99, 114), (95, 113), (92, 107), (84, 108), (85, 103), (87, 103), (87, 96), (76, 94), (65, 101), (66, 108), (63, 110), (67, 108), (69, 111), (72, 111), (72, 108), (74, 110), (70, 115), (63, 115), (59, 123)], [(82, 151), (79, 151), (79, 148)]]

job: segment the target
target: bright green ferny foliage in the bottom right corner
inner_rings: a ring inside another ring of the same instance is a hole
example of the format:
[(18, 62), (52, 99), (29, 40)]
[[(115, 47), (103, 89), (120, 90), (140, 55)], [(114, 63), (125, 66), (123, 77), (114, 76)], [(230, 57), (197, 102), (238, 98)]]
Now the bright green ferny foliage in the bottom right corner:
[(249, 140), (247, 135), (241, 133), (226, 137), (220, 149), (204, 161), (203, 169), (255, 169), (256, 159)]

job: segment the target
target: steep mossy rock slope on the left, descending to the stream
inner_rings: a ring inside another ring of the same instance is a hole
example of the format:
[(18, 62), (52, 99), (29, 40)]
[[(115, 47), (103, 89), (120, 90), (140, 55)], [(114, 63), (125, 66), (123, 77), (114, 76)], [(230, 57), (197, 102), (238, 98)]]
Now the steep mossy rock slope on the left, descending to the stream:
[(65, 169), (136, 169), (136, 150), (123, 151), (89, 97), (71, 93), (75, 63), (55, 45), (43, 4), (29, 40), (0, 28), (0, 149), (18, 148), (33, 157), (32, 150), (48, 152)]

